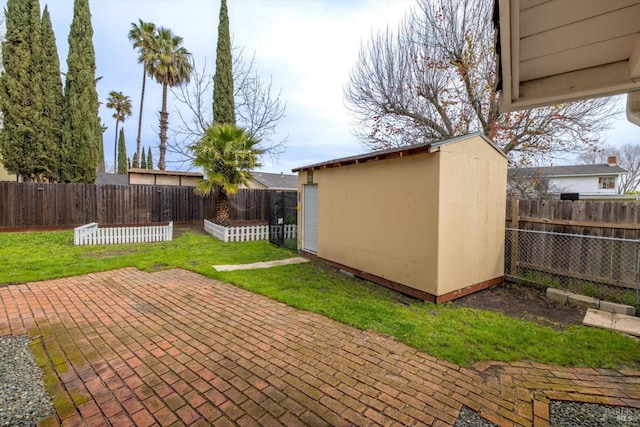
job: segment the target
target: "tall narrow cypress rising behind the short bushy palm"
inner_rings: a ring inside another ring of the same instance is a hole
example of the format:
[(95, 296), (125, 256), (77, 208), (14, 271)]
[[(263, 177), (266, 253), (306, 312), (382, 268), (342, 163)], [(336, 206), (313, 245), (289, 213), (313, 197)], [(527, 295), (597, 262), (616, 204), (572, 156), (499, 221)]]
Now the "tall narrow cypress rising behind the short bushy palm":
[(231, 37), (229, 36), (229, 14), (227, 1), (220, 3), (218, 23), (218, 47), (216, 50), (216, 73), (213, 76), (213, 122), (236, 124), (233, 100), (233, 73), (231, 68)]

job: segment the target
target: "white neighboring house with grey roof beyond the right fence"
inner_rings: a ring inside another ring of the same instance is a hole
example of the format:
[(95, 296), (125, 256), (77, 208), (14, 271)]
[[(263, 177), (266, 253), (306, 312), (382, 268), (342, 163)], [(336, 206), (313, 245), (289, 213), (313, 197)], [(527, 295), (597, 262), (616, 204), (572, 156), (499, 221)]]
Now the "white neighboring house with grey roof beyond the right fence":
[(514, 197), (558, 196), (578, 193), (580, 197), (607, 197), (620, 194), (620, 180), (628, 172), (617, 165), (616, 157), (597, 165), (510, 168), (507, 187)]

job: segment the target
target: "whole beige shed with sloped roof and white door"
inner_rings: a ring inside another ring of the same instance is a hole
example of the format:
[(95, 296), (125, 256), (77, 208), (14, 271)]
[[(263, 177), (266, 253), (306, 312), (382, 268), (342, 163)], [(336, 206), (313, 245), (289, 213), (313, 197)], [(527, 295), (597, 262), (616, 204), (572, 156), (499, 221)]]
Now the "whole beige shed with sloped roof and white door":
[(298, 248), (436, 303), (500, 284), (507, 164), (476, 133), (294, 169)]

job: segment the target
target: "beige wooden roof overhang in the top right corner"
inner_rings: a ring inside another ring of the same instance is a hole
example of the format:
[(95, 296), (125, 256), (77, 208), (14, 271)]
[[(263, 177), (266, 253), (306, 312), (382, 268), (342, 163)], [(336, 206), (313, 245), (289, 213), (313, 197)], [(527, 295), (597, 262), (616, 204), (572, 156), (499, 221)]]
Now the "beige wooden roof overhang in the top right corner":
[(495, 0), (500, 110), (640, 91), (640, 0)]

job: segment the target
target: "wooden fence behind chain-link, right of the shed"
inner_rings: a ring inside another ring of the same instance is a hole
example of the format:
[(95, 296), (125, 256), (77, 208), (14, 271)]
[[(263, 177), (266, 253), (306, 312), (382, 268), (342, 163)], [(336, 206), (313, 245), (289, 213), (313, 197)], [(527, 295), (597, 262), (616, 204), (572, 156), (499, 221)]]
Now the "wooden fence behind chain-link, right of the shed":
[(639, 214), (637, 202), (512, 201), (505, 274), (637, 288)]

